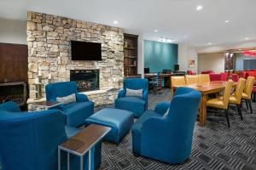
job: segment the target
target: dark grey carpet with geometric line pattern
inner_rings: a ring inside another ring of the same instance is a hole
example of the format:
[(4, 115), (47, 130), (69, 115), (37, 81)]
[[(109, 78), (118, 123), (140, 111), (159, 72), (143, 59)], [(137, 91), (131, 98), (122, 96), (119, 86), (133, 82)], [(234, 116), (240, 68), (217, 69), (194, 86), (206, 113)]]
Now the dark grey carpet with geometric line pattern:
[[(164, 89), (161, 94), (150, 94), (149, 108), (163, 100), (171, 99), (170, 90)], [(232, 111), (232, 110), (231, 110)], [(102, 167), (100, 169), (223, 169), (255, 170), (256, 169), (256, 104), (253, 103), (250, 114), (243, 111), (244, 121), (239, 116), (230, 116), (230, 128), (226, 125), (224, 115), (208, 116), (207, 126), (195, 125), (192, 154), (188, 161), (170, 165), (148, 158), (135, 157), (131, 152), (131, 133), (119, 144), (104, 142), (102, 145)]]

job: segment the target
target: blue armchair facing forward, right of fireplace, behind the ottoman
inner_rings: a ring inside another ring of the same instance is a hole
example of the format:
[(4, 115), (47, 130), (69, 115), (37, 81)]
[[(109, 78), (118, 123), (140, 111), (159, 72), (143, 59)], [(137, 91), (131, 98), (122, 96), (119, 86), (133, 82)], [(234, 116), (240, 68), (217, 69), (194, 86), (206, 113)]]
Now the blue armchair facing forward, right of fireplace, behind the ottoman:
[[(126, 88), (143, 89), (143, 97), (125, 96)], [(148, 79), (125, 78), (124, 88), (119, 91), (118, 99), (115, 99), (115, 108), (131, 111), (134, 116), (142, 116), (148, 110)]]

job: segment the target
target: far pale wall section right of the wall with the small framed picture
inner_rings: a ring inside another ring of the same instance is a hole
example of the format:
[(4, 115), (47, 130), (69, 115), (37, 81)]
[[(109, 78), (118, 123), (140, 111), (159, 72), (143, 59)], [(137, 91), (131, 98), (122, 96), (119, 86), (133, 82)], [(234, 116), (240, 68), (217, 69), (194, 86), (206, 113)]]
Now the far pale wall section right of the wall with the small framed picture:
[(224, 53), (198, 54), (198, 72), (224, 71)]

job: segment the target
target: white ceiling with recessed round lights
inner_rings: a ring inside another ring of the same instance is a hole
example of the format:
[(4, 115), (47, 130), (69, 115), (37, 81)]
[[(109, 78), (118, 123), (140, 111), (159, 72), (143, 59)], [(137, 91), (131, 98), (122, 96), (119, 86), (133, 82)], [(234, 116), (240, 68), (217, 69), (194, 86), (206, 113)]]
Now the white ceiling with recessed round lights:
[[(203, 6), (201, 11), (195, 10), (197, 5)], [(0, 0), (1, 18), (26, 20), (27, 10), (123, 27), (144, 39), (168, 37), (196, 47), (256, 39), (256, 0)], [(113, 20), (119, 24), (113, 25)]]

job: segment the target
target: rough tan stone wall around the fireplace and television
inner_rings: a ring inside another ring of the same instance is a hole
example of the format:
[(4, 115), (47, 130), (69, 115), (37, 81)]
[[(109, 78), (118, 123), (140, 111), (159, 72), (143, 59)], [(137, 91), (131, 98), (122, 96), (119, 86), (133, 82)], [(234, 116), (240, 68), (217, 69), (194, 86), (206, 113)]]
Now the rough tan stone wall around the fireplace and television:
[[(102, 61), (71, 60), (70, 41), (101, 42)], [(27, 13), (28, 84), (35, 98), (35, 81), (42, 73), (42, 91), (49, 83), (69, 81), (70, 70), (99, 69), (100, 88), (119, 88), (124, 75), (123, 29), (35, 12)], [(122, 85), (122, 84), (121, 84)]]

